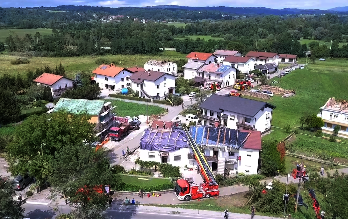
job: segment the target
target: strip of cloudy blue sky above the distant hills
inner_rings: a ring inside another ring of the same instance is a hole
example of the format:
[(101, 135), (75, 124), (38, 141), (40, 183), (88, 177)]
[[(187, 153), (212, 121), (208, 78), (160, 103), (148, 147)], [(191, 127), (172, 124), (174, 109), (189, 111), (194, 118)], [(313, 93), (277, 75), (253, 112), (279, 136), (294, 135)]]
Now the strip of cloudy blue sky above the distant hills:
[(56, 7), (58, 5), (90, 5), (105, 7), (144, 7), (156, 5), (180, 6), (229, 6), (229, 7), (266, 7), (266, 8), (302, 8), (327, 10), (334, 7), (347, 6), (348, 2), (342, 0), (1, 0), (0, 7)]

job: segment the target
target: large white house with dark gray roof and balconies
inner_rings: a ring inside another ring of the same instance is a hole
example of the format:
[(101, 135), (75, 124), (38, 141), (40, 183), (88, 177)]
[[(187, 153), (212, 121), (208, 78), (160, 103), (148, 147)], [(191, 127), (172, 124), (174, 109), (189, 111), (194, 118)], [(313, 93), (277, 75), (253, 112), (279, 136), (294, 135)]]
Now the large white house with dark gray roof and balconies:
[(229, 129), (256, 130), (261, 133), (271, 129), (272, 111), (275, 106), (252, 99), (213, 94), (201, 105), (203, 111), (198, 117), (202, 124), (214, 126), (220, 122)]

